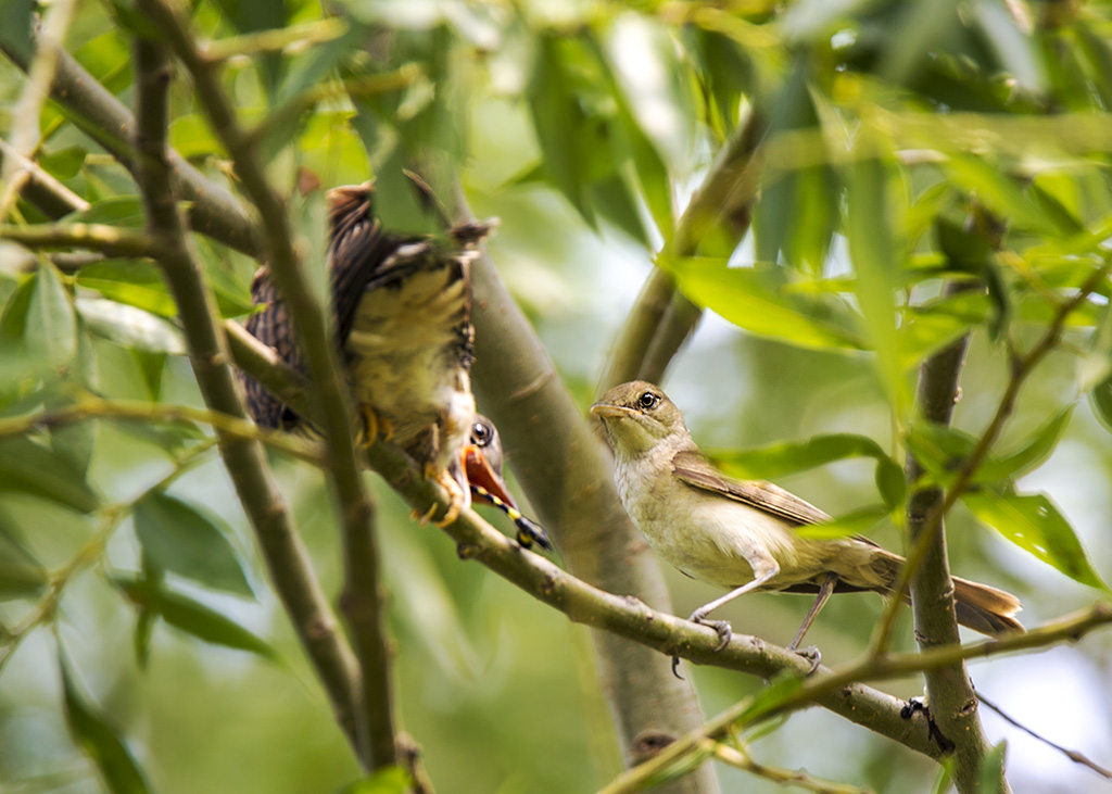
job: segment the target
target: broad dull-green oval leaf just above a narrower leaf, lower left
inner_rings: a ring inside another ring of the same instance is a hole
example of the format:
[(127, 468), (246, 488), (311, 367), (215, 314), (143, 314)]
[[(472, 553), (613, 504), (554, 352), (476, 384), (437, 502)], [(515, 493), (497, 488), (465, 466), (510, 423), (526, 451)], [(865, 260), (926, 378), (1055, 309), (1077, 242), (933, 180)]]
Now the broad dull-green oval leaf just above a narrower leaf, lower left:
[(254, 595), (228, 530), (215, 517), (152, 490), (136, 503), (135, 523), (143, 554), (155, 565), (215, 589)]

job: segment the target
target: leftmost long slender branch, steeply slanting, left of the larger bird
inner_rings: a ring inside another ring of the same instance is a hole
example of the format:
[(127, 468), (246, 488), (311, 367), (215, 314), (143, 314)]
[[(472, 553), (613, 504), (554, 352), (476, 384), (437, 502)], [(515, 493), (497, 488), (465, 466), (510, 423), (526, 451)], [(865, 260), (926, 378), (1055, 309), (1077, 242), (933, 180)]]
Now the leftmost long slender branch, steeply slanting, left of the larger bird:
[[(163, 48), (136, 44), (137, 103), (141, 125), (137, 147), (140, 187), (152, 234), (161, 237), (160, 264), (182, 318), (186, 343), (206, 405), (246, 420), (238, 387), (228, 367), (227, 345), (216, 317), (215, 299), (189, 251), (171, 185), (172, 158), (166, 150), (166, 91), (169, 72)], [(338, 632), (328, 598), (320, 588), (258, 441), (217, 430), (220, 454), (240, 503), (302, 646), (325, 685), (336, 719), (355, 744), (353, 706), (359, 678), (356, 659)]]

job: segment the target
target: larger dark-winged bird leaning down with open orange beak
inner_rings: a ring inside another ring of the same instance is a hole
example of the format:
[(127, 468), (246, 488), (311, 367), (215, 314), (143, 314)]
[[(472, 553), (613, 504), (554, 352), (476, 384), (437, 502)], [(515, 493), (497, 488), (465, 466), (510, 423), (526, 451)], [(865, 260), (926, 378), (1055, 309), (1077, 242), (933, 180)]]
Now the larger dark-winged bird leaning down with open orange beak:
[[(456, 227), (447, 240), (394, 235), (375, 217), (373, 198), (370, 182), (328, 193), (336, 340), (366, 438), (381, 433), (444, 486), (451, 506), (443, 524), (470, 505), (473, 483), (494, 495), (493, 504), (516, 513), (500, 476), (500, 447), (497, 474), (485, 460), (496, 435), (485, 444), (473, 438), (493, 434), (493, 425), (476, 414), (469, 376), (475, 336), (470, 265), (487, 227)], [(266, 308), (248, 318), (247, 330), (305, 373), (304, 353), (266, 267), (255, 275), (251, 298)], [(301, 423), (261, 384), (246, 375), (244, 383), (256, 423), (284, 428)], [(549, 547), (540, 527), (528, 519), (515, 523), (523, 545)]]

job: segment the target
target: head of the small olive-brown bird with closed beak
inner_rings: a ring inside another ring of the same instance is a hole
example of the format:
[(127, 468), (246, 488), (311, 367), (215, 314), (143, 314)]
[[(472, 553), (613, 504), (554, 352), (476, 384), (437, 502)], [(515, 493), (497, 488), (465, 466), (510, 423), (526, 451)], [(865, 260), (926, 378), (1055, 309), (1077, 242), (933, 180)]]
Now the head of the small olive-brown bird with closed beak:
[(659, 386), (633, 380), (615, 386), (590, 406), (603, 420), (614, 454), (636, 457), (667, 439), (669, 446), (687, 446), (691, 435), (684, 417)]

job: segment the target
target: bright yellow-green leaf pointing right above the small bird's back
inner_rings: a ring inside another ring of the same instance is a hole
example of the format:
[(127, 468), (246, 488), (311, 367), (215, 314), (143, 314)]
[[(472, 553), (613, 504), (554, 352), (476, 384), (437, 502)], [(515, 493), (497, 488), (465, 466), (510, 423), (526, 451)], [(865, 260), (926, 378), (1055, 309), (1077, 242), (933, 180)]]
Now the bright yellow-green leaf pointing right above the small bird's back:
[(786, 268), (728, 267), (721, 258), (671, 258), (668, 270), (693, 302), (745, 330), (791, 345), (817, 349), (857, 349), (856, 316), (834, 296), (808, 296), (792, 289)]

